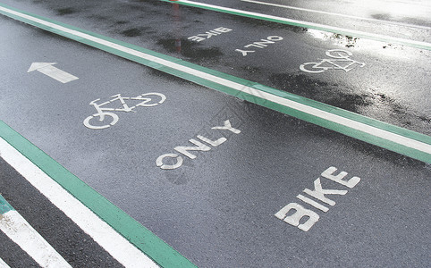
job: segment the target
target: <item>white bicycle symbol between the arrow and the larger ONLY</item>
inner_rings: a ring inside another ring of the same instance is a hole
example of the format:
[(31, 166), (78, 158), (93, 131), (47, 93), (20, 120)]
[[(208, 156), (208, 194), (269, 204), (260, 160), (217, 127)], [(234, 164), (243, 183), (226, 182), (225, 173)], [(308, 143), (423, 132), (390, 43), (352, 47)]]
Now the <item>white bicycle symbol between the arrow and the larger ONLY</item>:
[[(145, 97), (145, 96), (149, 96), (149, 97)], [(151, 96), (156, 96), (156, 99), (160, 99), (158, 100), (158, 102), (156, 103), (150, 103), (153, 100), (153, 98)], [(115, 111), (115, 112), (135, 112), (133, 111), (134, 108), (138, 107), (138, 106), (142, 106), (142, 107), (152, 107), (152, 106), (156, 106), (159, 104), (163, 104), (165, 102), (166, 96), (161, 94), (161, 93), (146, 93), (146, 94), (142, 94), (139, 96), (135, 96), (135, 97), (129, 97), (129, 96), (122, 96), (121, 94), (117, 94), (114, 96), (111, 96), (113, 99), (102, 103), (100, 105), (97, 104), (97, 101), (100, 100), (100, 98), (95, 99), (94, 101), (90, 102), (89, 105), (93, 105), (97, 111), (97, 113), (94, 113), (93, 115), (90, 115), (89, 117), (87, 117), (84, 120), (84, 126), (86, 126), (89, 129), (93, 129), (93, 130), (103, 130), (106, 128), (109, 128), (110, 126), (114, 126), (114, 124), (118, 121), (118, 115), (116, 113), (111, 113), (111, 112), (105, 112), (105, 111)], [(142, 102), (140, 102), (138, 105), (135, 106), (129, 106), (126, 104), (125, 100), (142, 100)], [(120, 102), (123, 105), (123, 108), (102, 108), (102, 106), (113, 103), (116, 100), (120, 100)], [(96, 124), (95, 120), (93, 120), (96, 117), (99, 117), (98, 121), (105, 121), (106, 120), (106, 116), (111, 117), (111, 120), (109, 120), (109, 123), (106, 124), (106, 122), (104, 122), (105, 124)], [(93, 122), (93, 123), (92, 123)]]

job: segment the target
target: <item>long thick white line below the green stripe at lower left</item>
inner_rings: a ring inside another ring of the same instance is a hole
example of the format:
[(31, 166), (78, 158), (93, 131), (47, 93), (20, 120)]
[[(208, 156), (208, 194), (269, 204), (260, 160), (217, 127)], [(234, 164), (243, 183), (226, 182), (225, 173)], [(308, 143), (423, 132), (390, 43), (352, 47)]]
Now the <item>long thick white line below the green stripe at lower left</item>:
[(158, 267), (3, 138), (0, 138), (0, 155), (120, 264), (125, 267)]

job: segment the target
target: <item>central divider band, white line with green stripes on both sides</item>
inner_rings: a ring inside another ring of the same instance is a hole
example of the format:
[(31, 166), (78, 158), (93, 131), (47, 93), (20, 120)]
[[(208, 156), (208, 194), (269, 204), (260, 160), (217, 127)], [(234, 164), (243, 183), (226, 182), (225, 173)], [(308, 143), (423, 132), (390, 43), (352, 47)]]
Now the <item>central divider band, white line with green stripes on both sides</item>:
[[(178, 1), (180, 2), (180, 1)], [(181, 1), (183, 2), (183, 1)], [(431, 163), (431, 137), (0, 4), (0, 13), (185, 80)]]

